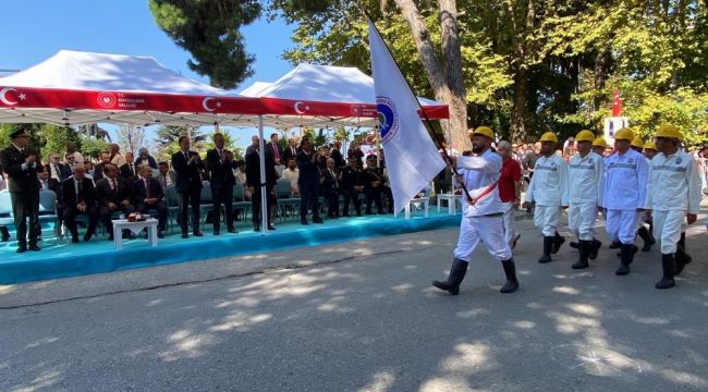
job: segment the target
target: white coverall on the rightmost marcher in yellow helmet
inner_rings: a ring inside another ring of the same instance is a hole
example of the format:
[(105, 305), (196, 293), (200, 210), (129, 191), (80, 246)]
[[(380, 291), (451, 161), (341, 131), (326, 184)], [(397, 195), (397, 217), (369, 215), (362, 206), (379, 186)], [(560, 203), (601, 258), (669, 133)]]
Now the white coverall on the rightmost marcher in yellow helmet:
[(687, 213), (700, 209), (700, 174), (696, 161), (686, 152), (657, 154), (649, 167), (645, 208), (651, 210), (654, 236), (661, 241), (661, 253), (676, 253), (676, 243)]

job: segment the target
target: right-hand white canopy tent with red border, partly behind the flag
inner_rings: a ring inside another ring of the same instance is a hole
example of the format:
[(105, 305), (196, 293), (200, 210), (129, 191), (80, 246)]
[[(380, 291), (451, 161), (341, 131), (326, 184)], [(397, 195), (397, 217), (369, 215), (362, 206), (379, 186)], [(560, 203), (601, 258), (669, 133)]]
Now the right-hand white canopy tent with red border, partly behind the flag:
[[(274, 126), (375, 126), (374, 78), (356, 68), (300, 64), (273, 83), (256, 82), (241, 96), (260, 98)], [(418, 98), (429, 119), (447, 119), (448, 106)]]

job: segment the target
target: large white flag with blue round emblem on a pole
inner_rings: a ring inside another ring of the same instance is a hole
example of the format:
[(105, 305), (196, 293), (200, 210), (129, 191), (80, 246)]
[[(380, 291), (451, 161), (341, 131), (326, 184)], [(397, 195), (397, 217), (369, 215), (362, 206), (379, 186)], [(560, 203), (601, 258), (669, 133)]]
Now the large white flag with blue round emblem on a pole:
[(369, 47), (386, 168), (394, 210), (400, 212), (445, 163), (418, 117), (417, 98), (371, 21)]

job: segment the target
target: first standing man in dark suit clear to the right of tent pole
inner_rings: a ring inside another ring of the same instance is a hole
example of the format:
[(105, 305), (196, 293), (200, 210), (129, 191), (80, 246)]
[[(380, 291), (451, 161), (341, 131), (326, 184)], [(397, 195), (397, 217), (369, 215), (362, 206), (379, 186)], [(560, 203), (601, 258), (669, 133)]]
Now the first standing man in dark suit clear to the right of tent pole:
[(297, 187), (300, 188), (300, 222), (307, 223), (308, 204), (313, 209), (313, 222), (324, 223), (319, 218), (319, 168), (317, 167), (318, 154), (313, 151), (313, 145), (308, 138), (300, 144), (301, 151), (297, 152)]

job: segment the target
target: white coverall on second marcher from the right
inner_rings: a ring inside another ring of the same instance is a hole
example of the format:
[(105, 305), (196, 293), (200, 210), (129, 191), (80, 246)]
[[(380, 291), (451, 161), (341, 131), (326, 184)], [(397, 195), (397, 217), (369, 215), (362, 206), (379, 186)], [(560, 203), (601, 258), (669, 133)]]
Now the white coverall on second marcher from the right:
[(633, 149), (624, 155), (618, 151), (606, 159), (605, 170), (602, 207), (607, 209), (607, 234), (622, 244), (634, 244), (637, 209), (644, 208), (647, 193), (647, 160)]

